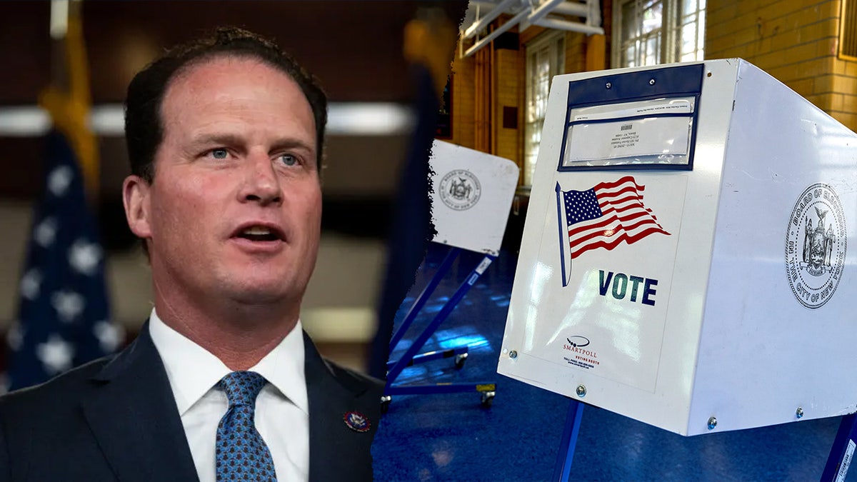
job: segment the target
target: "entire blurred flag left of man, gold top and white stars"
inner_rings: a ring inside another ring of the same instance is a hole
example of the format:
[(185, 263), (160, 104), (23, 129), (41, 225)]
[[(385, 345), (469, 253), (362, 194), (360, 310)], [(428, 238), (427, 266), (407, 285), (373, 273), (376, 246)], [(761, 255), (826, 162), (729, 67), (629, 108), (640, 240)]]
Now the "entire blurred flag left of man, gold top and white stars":
[(66, 75), (39, 95), (53, 129), (46, 139), (44, 195), (21, 271), (18, 318), (6, 335), (8, 371), (0, 373), (0, 393), (45, 382), (114, 352), (124, 340), (110, 322), (104, 253), (84, 190), (84, 177), (89, 187), (97, 184), (98, 148), (87, 127), (91, 99), (80, 13), (79, 4), (69, 5), (68, 32), (57, 51)]

